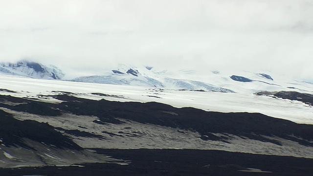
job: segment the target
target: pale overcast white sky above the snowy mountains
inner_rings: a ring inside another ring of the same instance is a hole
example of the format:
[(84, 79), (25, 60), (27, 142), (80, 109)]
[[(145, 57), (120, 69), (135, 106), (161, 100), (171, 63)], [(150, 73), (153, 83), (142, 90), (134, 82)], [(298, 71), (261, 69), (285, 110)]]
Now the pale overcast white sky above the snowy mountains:
[(313, 0), (0, 0), (0, 61), (275, 70), (313, 80)]

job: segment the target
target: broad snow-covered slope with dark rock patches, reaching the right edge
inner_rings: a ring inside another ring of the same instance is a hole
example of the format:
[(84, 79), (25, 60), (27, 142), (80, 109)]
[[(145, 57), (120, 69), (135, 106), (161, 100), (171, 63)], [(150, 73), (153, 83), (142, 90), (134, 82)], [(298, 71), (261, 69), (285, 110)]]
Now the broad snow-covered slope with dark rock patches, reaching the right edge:
[(203, 72), (119, 65), (112, 70), (104, 70), (102, 75), (78, 77), (71, 81), (221, 92), (254, 93), (264, 90), (313, 92), (312, 84), (293, 80), (271, 71), (208, 70)]

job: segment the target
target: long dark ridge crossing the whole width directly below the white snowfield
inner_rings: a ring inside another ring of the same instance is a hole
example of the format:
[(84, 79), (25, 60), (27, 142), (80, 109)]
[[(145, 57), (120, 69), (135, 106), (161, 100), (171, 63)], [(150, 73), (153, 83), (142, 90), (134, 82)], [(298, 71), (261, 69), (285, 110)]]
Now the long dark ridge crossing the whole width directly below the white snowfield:
[[(1, 98), (3, 99), (4, 96), (0, 96)], [(224, 133), (281, 145), (279, 141), (265, 137), (277, 136), (313, 147), (313, 125), (296, 124), (260, 113), (211, 112), (195, 108), (174, 108), (156, 102), (114, 102), (104, 99), (96, 101), (65, 94), (55, 95), (54, 98), (64, 102), (50, 104), (27, 100), (30, 103), (6, 106), (13, 110), (50, 116), (60, 115), (62, 111), (76, 115), (97, 116), (98, 120), (93, 122), (102, 125), (121, 124), (124, 123), (123, 120), (131, 120), (143, 124), (191, 130), (199, 132), (204, 140), (224, 141), (224, 138), (214, 135), (214, 133)]]

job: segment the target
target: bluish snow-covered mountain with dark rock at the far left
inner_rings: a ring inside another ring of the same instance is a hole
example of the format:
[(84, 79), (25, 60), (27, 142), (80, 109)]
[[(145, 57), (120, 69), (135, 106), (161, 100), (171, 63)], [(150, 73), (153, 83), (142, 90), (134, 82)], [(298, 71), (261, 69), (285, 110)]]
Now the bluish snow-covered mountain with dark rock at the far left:
[(22, 60), (17, 63), (0, 63), (0, 73), (19, 75), (37, 79), (56, 79), (64, 77), (64, 73), (56, 66), (45, 66), (41, 63)]

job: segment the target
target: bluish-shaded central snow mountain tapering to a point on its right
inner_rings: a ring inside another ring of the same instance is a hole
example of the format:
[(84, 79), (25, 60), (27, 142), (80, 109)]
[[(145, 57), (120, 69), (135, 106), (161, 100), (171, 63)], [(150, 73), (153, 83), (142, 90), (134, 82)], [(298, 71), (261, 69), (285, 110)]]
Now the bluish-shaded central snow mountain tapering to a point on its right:
[[(181, 71), (178, 71), (178, 73), (181, 73)], [(188, 78), (175, 78), (167, 70), (157, 71), (149, 66), (134, 67), (119, 65), (116, 69), (112, 69), (103, 75), (78, 77), (71, 81), (152, 88), (234, 92), (230, 89), (216, 87), (201, 81), (188, 80)]]

